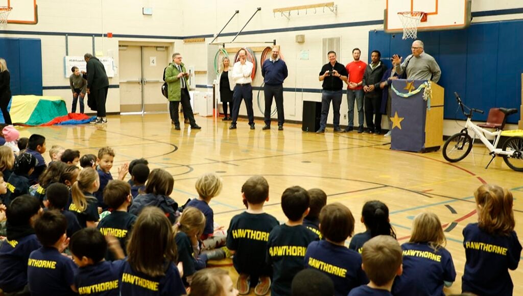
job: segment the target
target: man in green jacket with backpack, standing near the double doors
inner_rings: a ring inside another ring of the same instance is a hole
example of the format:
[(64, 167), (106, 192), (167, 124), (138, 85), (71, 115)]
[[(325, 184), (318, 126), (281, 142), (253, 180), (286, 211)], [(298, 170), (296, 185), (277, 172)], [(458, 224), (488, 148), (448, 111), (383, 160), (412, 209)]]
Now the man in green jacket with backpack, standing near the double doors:
[(181, 108), (184, 109), (184, 116), (189, 120), (191, 129), (199, 130), (201, 127), (196, 124), (190, 104), (189, 81), (187, 77), (189, 77), (189, 73), (185, 70), (184, 63), (181, 62), (181, 54), (176, 52), (173, 54), (173, 62), (165, 70), (165, 82), (167, 82), (169, 93), (170, 119), (174, 123), (174, 128), (179, 130), (178, 108), (181, 102)]

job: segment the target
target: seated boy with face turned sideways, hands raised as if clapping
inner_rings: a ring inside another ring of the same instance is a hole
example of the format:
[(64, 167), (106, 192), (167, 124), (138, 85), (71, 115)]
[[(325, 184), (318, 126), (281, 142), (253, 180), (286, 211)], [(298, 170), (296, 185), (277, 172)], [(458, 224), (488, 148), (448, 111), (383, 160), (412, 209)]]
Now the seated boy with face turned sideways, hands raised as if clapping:
[[(98, 176), (100, 177), (100, 187), (95, 192), (95, 197), (98, 199), (98, 207), (101, 207), (103, 211), (107, 210), (107, 205), (104, 203), (104, 188), (112, 180), (111, 168), (112, 163), (115, 161), (115, 151), (111, 147), (102, 147), (98, 150)], [(123, 180), (126, 177), (129, 164), (125, 163), (118, 168), (118, 180)]]

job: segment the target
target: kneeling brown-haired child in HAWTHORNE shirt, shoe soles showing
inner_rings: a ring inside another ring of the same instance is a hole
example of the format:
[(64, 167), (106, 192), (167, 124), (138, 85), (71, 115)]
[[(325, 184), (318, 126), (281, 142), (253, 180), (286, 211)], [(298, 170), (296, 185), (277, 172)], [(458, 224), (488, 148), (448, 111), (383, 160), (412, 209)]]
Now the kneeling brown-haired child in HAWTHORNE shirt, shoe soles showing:
[(234, 254), (232, 261), (239, 275), (238, 291), (247, 294), (251, 286), (256, 285), (254, 291), (262, 295), (270, 289), (272, 275), (266, 260), (267, 241), (270, 231), (279, 222), (263, 210), (264, 203), (269, 201), (269, 184), (264, 177), (249, 178), (242, 186), (242, 198), (247, 203), (247, 210), (231, 219), (227, 247)]

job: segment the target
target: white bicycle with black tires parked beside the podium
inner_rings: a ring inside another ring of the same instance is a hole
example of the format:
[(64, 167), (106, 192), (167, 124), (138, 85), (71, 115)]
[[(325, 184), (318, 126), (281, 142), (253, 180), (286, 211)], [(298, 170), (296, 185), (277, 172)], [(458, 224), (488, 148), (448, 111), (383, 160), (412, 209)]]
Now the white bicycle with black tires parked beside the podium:
[[(503, 143), (502, 148), (497, 148), (499, 138), (501, 138), (501, 133), (503, 130), (496, 129), (494, 132), (491, 132), (477, 126), (472, 122), (472, 113), (477, 112), (483, 114), (484, 112), (479, 109), (465, 106), (461, 101), (458, 93), (454, 93), (454, 95), (456, 95), (456, 100), (458, 100), (458, 105), (461, 107), (463, 115), (467, 116), (467, 123), (465, 123), (464, 129), (462, 129), (459, 133), (451, 135), (450, 138), (447, 139), (443, 145), (443, 157), (445, 157), (445, 159), (451, 163), (461, 161), (463, 158), (469, 155), (470, 151), (472, 150), (474, 140), (478, 138), (487, 147), (489, 151), (488, 154), (492, 155), (491, 161), (488, 162), (485, 168), (488, 168), (496, 156), (502, 156), (508, 167), (517, 170), (518, 172), (523, 172), (523, 137), (512, 136), (506, 140), (505, 143)], [(469, 112), (465, 112), (465, 109), (469, 110)], [(518, 112), (518, 110), (514, 108), (499, 108), (499, 110), (505, 113), (505, 118)], [(474, 132), (474, 140), (468, 133), (469, 129)], [(487, 140), (485, 134), (495, 137), (493, 144)]]

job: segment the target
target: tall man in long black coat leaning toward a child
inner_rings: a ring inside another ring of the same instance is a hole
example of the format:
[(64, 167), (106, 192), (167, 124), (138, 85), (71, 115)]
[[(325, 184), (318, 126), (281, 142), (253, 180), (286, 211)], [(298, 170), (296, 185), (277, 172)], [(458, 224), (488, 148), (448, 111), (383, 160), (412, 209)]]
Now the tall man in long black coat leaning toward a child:
[[(84, 60), (87, 63), (87, 94), (89, 95), (87, 105), (96, 110), (96, 119), (90, 123), (107, 123), (105, 103), (109, 90), (109, 78), (105, 73), (104, 64), (90, 53), (84, 54)], [(89, 101), (94, 101), (94, 108), (93, 104), (89, 104)]]

